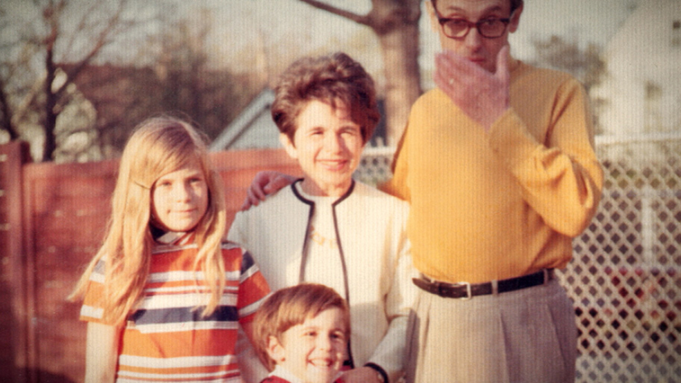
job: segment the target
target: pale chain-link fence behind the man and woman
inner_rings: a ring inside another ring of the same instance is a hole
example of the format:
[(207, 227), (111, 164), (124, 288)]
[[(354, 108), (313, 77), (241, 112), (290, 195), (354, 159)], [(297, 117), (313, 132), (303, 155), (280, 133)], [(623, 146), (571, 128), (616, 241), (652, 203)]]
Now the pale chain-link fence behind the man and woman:
[[(390, 177), (367, 148), (356, 177)], [(559, 273), (575, 303), (578, 382), (681, 380), (681, 135), (605, 139), (603, 198)]]

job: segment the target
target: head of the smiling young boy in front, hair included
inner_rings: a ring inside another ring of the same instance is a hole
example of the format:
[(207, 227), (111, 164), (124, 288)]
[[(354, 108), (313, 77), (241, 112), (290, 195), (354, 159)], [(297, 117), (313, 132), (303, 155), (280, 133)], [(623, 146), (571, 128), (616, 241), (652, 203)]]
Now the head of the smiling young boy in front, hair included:
[(340, 383), (349, 339), (345, 299), (321, 284), (272, 294), (254, 324), (254, 343), (271, 371), (262, 383)]

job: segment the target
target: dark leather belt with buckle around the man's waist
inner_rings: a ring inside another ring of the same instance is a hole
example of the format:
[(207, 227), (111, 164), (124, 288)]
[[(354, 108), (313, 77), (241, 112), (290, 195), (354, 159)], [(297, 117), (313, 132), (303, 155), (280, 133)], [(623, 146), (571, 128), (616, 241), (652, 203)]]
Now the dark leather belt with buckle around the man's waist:
[(499, 281), (479, 284), (470, 284), (468, 282), (450, 284), (432, 280), (425, 277), (425, 275), (422, 275), (421, 278), (413, 278), (412, 281), (416, 286), (419, 286), (419, 288), (428, 291), (428, 293), (431, 294), (439, 295), (444, 298), (470, 299), (477, 295), (508, 293), (509, 291), (516, 291), (521, 288), (539, 286), (548, 283), (548, 281), (554, 278), (553, 268), (544, 268), (544, 270), (539, 271), (538, 273), (523, 275), (522, 277), (501, 279)]

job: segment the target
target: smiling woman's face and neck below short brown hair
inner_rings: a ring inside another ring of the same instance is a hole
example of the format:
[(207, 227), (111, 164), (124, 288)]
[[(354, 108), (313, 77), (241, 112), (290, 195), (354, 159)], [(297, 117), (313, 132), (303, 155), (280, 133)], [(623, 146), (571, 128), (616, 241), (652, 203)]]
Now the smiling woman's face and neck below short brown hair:
[(283, 134), (280, 140), (305, 173), (306, 193), (332, 197), (345, 194), (364, 142), (361, 127), (352, 121), (344, 104), (339, 102), (334, 108), (322, 101), (307, 101), (296, 119), (294, 141)]

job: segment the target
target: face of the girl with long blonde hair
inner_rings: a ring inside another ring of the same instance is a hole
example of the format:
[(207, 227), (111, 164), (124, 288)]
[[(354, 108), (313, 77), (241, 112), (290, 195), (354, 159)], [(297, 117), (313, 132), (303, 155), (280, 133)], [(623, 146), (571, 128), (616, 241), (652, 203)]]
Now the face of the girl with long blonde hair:
[(154, 223), (164, 230), (189, 231), (208, 209), (208, 184), (197, 160), (163, 175), (151, 188)]

